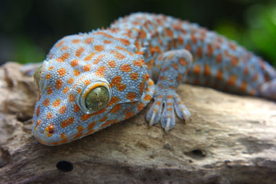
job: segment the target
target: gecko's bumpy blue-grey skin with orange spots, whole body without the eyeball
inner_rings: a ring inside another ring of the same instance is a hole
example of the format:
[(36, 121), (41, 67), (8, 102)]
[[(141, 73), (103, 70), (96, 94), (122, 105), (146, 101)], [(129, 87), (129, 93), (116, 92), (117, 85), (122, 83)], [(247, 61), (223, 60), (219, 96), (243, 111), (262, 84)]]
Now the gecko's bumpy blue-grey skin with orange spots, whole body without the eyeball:
[[(176, 93), (181, 81), (276, 99), (276, 72), (268, 63), (215, 32), (161, 14), (130, 14), (107, 30), (64, 37), (39, 79), (32, 131), (46, 145), (135, 116), (151, 99), (147, 121), (170, 130), (175, 113), (190, 116)], [(108, 105), (87, 110), (86, 95), (97, 86), (108, 90)]]

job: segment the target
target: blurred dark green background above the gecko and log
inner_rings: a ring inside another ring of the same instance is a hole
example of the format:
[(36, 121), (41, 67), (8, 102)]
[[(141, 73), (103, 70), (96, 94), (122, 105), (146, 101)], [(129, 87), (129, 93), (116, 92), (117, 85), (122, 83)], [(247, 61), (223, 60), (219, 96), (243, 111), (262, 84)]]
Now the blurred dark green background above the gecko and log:
[(131, 12), (172, 15), (216, 30), (276, 66), (276, 1), (0, 1), (0, 63), (39, 62), (61, 37), (106, 28)]

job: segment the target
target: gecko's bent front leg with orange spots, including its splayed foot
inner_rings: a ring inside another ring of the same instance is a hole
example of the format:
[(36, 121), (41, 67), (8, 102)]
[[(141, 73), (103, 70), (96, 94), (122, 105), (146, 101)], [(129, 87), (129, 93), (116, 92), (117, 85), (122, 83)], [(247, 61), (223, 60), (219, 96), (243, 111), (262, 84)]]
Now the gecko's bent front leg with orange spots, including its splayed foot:
[(186, 76), (193, 57), (188, 50), (170, 50), (161, 54), (155, 60), (152, 75), (157, 79), (155, 85), (154, 103), (146, 120), (150, 125), (161, 122), (166, 131), (175, 126), (175, 113), (180, 119), (187, 120), (190, 112), (182, 103), (176, 90)]

